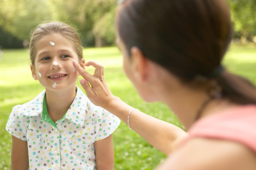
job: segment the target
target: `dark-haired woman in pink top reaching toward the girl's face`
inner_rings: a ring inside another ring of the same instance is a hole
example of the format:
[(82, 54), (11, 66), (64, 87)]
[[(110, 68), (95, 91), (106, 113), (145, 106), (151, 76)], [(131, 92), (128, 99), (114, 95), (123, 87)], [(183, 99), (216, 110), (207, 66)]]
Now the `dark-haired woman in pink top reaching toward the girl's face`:
[(221, 65), (232, 32), (226, 2), (125, 0), (116, 25), (127, 77), (145, 101), (166, 103), (188, 133), (113, 96), (95, 61), (85, 63), (94, 75), (75, 64), (90, 100), (169, 155), (158, 169), (256, 169), (256, 89)]

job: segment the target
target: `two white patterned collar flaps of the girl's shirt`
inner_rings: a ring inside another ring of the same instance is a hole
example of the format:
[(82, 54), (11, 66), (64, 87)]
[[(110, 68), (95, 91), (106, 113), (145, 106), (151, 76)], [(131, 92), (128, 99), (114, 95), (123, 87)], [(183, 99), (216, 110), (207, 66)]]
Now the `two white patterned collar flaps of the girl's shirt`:
[[(69, 109), (67, 110), (64, 118), (69, 119), (74, 122), (78, 126), (82, 126), (84, 124), (85, 118), (85, 109), (87, 107), (88, 98), (85, 94), (76, 86), (77, 92), (76, 97)], [(26, 116), (42, 116), (43, 111), (43, 100), (45, 97), (45, 90), (42, 91), (37, 97), (35, 97), (32, 101), (23, 104), (23, 112), (22, 114)]]

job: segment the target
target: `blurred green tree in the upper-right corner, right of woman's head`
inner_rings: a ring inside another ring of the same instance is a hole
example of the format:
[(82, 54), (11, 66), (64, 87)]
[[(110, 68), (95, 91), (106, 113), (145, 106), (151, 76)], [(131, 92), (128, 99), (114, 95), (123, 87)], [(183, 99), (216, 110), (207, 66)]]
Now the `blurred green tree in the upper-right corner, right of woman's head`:
[(256, 0), (227, 0), (230, 5), (234, 31), (240, 32), (241, 43), (256, 34)]

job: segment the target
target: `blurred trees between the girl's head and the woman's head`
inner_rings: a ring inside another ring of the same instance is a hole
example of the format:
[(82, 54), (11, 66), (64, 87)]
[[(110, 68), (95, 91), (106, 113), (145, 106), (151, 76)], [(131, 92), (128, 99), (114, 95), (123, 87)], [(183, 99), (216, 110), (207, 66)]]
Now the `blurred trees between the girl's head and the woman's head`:
[(114, 14), (117, 0), (49, 0), (52, 13), (70, 21), (82, 37), (83, 45), (100, 47), (114, 43)]

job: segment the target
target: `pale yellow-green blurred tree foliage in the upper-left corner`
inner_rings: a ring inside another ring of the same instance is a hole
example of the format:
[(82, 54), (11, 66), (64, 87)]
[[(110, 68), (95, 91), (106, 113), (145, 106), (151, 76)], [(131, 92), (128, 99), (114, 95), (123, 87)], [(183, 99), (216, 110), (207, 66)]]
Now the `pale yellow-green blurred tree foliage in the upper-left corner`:
[(31, 29), (52, 19), (44, 0), (0, 0), (0, 4), (2, 32), (22, 41), (29, 40)]

